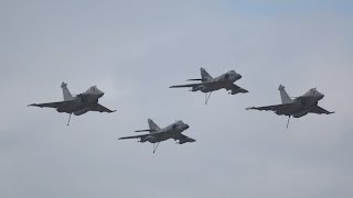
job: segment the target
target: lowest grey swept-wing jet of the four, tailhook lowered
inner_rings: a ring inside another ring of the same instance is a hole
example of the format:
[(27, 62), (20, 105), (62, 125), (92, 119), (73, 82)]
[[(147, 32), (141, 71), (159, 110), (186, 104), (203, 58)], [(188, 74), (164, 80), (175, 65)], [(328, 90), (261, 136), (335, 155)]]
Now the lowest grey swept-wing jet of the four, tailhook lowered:
[[(150, 142), (153, 143), (153, 153), (158, 148), (160, 142), (168, 139), (174, 139), (178, 144), (184, 144), (186, 142), (195, 142), (195, 140), (183, 135), (182, 132), (189, 129), (189, 125), (183, 121), (175, 121), (174, 123), (161, 129), (151, 119), (148, 119), (149, 130), (138, 130), (135, 132), (150, 132), (148, 134), (124, 136), (118, 140), (125, 139), (140, 139), (139, 142)], [(156, 144), (157, 143), (157, 144)]]

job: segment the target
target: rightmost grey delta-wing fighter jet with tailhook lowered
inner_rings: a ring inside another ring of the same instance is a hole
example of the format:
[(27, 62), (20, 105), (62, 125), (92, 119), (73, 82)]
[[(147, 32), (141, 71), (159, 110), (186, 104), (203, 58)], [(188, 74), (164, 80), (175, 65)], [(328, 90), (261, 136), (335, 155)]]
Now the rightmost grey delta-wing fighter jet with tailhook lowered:
[(322, 109), (318, 106), (319, 100), (321, 100), (324, 95), (319, 92), (317, 88), (312, 88), (307, 91), (304, 95), (291, 99), (285, 90), (285, 86), (280, 85), (278, 88), (280, 92), (280, 97), (282, 100), (281, 105), (277, 106), (266, 106), (266, 107), (250, 107), (246, 108), (246, 110), (255, 109), (255, 110), (265, 110), (265, 111), (275, 111), (278, 116), (288, 116), (287, 129), (289, 124), (290, 117), (300, 118), (308, 113), (317, 113), (317, 114), (331, 114), (334, 112), (330, 112), (325, 109)]

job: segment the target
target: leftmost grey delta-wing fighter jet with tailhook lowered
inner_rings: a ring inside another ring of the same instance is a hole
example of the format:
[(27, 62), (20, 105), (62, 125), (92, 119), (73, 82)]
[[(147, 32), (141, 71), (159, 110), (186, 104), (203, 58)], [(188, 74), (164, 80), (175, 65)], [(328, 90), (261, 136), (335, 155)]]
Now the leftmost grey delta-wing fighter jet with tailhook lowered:
[(104, 92), (97, 88), (97, 86), (90, 87), (83, 94), (77, 96), (72, 96), (67, 84), (62, 82), (62, 89), (64, 95), (64, 101), (58, 102), (49, 102), (49, 103), (32, 103), (30, 106), (34, 107), (46, 107), (46, 108), (55, 108), (57, 112), (66, 112), (69, 113), (67, 125), (69, 123), (71, 114), (75, 116), (84, 114), (88, 111), (98, 111), (98, 112), (115, 112), (115, 110), (109, 110), (106, 107), (103, 107), (98, 103), (98, 99), (103, 97)]

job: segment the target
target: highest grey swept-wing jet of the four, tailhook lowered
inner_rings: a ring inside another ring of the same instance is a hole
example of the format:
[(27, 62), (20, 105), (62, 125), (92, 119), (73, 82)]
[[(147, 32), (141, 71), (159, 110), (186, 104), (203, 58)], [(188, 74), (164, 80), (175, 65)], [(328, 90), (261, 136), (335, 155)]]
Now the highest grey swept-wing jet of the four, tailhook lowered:
[(189, 79), (188, 81), (192, 80), (200, 80), (199, 84), (188, 84), (188, 85), (178, 85), (171, 86), (170, 88), (182, 88), (182, 87), (191, 87), (190, 91), (202, 91), (205, 92), (205, 103), (207, 103), (212, 91), (226, 89), (229, 91), (229, 95), (236, 95), (239, 92), (248, 92), (246, 89), (234, 85), (234, 82), (242, 78), (242, 75), (237, 74), (235, 70), (229, 70), (216, 78), (213, 78), (205, 68), (200, 68), (201, 70), (201, 78), (197, 79)]

